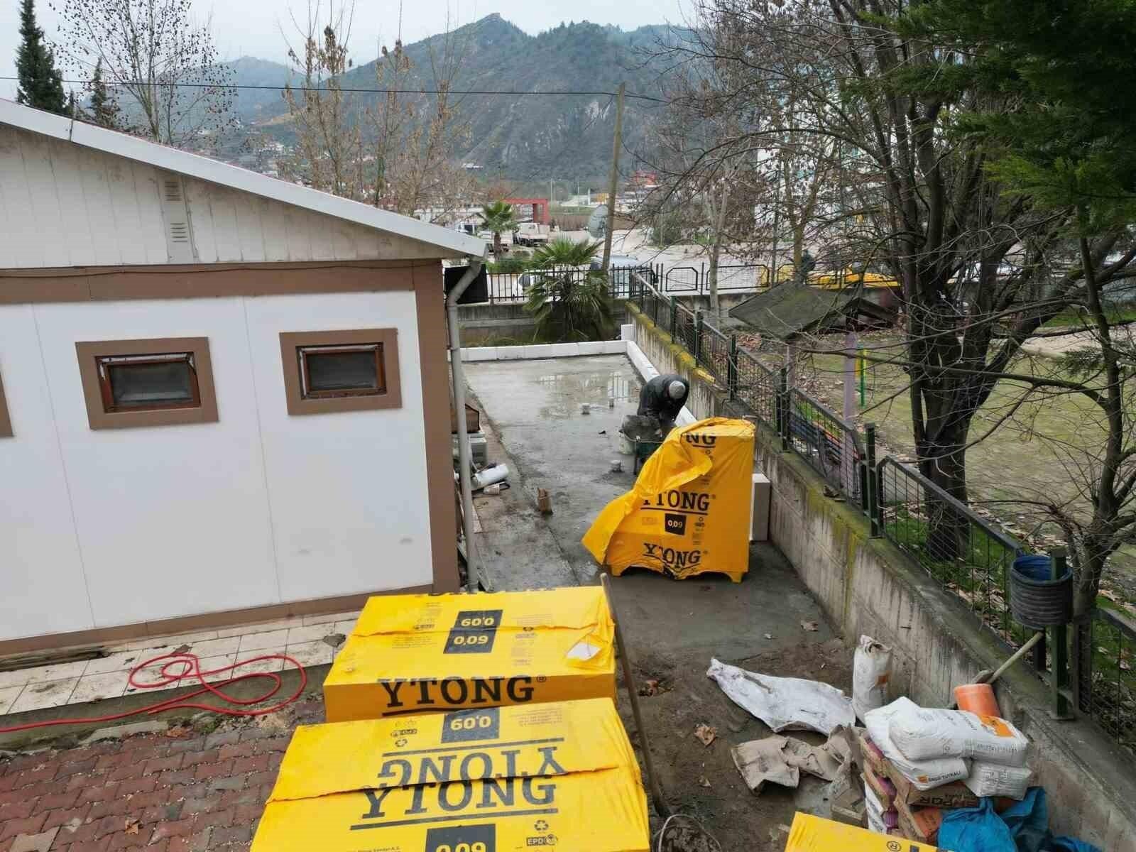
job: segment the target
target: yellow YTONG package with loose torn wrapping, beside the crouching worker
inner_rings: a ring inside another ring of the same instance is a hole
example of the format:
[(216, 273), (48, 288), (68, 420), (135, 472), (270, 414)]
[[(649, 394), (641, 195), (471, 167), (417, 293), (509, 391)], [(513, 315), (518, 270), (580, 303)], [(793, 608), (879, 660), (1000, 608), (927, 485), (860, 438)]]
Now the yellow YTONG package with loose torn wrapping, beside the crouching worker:
[(720, 417), (673, 429), (584, 535), (616, 576), (632, 566), (682, 579), (750, 566), (753, 425)]

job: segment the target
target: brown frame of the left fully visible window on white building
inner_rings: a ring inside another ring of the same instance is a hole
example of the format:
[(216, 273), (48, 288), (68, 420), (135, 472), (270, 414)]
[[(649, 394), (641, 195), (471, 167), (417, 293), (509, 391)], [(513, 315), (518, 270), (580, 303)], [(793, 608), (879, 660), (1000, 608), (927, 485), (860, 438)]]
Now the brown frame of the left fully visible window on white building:
[[(92, 429), (177, 426), (217, 423), (217, 394), (208, 337), (149, 337), (143, 340), (82, 341), (75, 344), (87, 423)], [(107, 359), (131, 358), (134, 364), (168, 361), (184, 357), (191, 365), (193, 402), (162, 402), (153, 406), (116, 408)]]

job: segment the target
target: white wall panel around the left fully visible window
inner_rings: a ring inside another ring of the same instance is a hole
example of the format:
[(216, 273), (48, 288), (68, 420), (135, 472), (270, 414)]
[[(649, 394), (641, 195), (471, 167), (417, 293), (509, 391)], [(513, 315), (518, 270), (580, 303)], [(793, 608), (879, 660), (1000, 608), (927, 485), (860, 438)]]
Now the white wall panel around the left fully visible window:
[[(278, 601), (241, 299), (36, 315), (95, 624)], [(127, 336), (208, 337), (219, 423), (92, 431), (75, 342)]]

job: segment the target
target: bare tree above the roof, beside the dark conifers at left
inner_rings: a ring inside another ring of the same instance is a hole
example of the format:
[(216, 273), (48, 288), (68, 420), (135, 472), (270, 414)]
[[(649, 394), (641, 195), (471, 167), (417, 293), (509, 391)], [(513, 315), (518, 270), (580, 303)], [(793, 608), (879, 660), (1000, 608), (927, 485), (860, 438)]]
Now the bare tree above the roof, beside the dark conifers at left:
[(234, 72), (218, 60), (191, 0), (59, 0), (56, 50), (86, 78), (101, 66), (124, 128), (170, 145), (235, 123)]

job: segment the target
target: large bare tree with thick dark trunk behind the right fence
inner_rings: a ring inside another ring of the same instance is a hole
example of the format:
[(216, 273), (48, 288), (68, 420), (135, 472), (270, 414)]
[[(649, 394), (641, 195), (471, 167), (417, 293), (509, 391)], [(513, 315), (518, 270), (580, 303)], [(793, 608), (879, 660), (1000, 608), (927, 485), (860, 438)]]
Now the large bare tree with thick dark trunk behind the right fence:
[[(902, 360), (920, 471), (967, 500), (966, 451), (975, 414), (1043, 323), (1085, 294), (1081, 258), (1060, 257), (1071, 210), (1041, 210), (1006, 194), (980, 141), (955, 132), (952, 116), (978, 106), (1013, 111), (1012, 94), (983, 91), (970, 59), (880, 23), (900, 0), (712, 0), (703, 14), (730, 34), (712, 59), (738, 68), (729, 98), (793, 103), (783, 126), (747, 132), (772, 148), (786, 133), (834, 140), (854, 164), (852, 199), (834, 216), (845, 254), (877, 257), (901, 282)], [(925, 74), (916, 78), (917, 72)], [(938, 75), (938, 85), (924, 81)], [(997, 102), (994, 102), (997, 101)], [(1121, 232), (1089, 241), (1094, 265)], [(1010, 261), (1013, 261), (1012, 265)], [(1102, 281), (1122, 266), (1102, 265)], [(932, 546), (951, 558), (966, 548), (964, 520), (932, 507)]]

